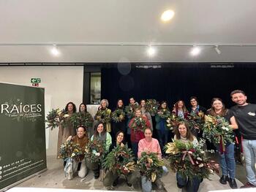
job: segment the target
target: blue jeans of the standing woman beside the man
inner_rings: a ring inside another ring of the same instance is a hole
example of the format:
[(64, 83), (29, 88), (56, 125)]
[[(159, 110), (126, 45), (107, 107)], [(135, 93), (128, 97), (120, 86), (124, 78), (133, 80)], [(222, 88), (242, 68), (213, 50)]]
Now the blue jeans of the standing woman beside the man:
[(234, 157), (234, 145), (230, 143), (225, 145), (225, 152), (219, 152), (219, 162), (222, 167), (222, 174), (229, 176), (231, 179), (235, 179), (236, 175), (236, 161)]

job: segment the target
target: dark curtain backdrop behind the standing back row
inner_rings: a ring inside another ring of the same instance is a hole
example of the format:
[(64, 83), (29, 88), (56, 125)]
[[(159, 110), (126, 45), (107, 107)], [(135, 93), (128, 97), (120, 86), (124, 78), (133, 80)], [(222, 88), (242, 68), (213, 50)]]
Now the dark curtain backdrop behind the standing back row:
[(211, 99), (219, 97), (229, 108), (233, 106), (230, 92), (241, 89), (249, 102), (256, 103), (256, 64), (231, 64), (231, 68), (225, 68), (227, 65), (162, 64), (159, 69), (141, 69), (135, 64), (108, 65), (102, 68), (102, 99), (108, 99), (110, 109), (116, 107), (118, 99), (127, 105), (131, 96), (138, 102), (166, 100), (172, 108), (178, 99), (189, 107), (189, 97), (197, 96), (200, 105), (209, 108)]

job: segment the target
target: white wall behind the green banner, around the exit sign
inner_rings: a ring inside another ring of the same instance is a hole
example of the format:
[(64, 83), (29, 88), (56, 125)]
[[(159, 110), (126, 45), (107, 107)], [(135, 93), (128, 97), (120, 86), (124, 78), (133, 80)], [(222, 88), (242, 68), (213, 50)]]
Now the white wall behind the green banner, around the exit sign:
[[(31, 85), (31, 78), (41, 78), (39, 87), (45, 88), (45, 112), (63, 109), (72, 101), (77, 108), (83, 101), (83, 66), (1, 66), (0, 82)], [(46, 153), (56, 155), (58, 129), (45, 130)]]

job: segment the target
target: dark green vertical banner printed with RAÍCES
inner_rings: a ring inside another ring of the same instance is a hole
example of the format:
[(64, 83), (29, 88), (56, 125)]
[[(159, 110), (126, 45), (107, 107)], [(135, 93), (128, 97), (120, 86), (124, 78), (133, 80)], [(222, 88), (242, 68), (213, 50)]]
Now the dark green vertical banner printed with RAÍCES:
[(0, 82), (0, 191), (46, 168), (45, 90)]

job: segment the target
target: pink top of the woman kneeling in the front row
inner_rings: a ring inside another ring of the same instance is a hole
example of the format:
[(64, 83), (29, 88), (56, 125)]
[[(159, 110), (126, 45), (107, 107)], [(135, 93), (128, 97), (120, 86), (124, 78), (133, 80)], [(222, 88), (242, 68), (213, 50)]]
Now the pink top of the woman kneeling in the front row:
[(140, 158), (140, 153), (142, 153), (143, 151), (157, 153), (157, 156), (159, 158), (162, 157), (161, 148), (157, 139), (152, 138), (151, 142), (148, 142), (146, 138), (140, 139), (138, 148), (138, 158)]

